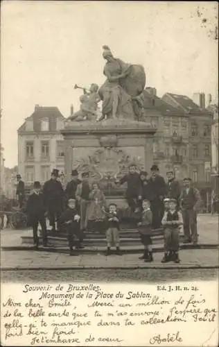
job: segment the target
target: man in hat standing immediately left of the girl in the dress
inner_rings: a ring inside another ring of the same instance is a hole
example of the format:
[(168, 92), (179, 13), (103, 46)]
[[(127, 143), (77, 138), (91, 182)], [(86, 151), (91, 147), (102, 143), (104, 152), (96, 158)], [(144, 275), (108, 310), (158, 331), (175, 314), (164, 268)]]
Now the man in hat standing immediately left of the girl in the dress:
[(89, 194), (91, 187), (89, 185), (89, 172), (82, 172), (82, 183), (77, 186), (76, 199), (80, 205), (80, 229), (87, 228), (87, 207), (89, 205)]

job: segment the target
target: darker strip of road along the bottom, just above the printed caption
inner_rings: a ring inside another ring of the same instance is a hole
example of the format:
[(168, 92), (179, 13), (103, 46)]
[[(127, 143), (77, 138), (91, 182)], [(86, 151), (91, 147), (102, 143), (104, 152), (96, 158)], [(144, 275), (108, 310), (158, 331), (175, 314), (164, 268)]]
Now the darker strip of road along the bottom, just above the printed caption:
[(175, 280), (213, 280), (218, 269), (83, 269), (1, 271), (1, 282), (163, 282)]

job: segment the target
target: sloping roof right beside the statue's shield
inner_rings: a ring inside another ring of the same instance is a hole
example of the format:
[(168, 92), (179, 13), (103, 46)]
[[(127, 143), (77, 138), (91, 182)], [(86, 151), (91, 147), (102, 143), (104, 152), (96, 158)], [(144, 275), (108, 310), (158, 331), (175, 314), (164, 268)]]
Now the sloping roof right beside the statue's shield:
[(166, 103), (166, 101), (162, 100), (155, 94), (150, 94), (147, 90), (144, 90), (141, 94), (141, 100), (143, 101), (143, 108), (155, 108), (163, 115), (184, 115), (184, 111), (181, 108)]

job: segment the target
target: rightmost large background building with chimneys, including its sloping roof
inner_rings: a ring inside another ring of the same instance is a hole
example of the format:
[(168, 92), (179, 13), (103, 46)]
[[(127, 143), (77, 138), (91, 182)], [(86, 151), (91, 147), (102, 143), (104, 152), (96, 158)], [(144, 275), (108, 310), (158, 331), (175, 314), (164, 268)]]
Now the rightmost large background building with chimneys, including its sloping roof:
[(185, 95), (166, 93), (162, 100), (175, 108), (182, 110), (188, 117), (188, 174), (200, 189), (202, 198), (206, 205), (210, 203), (211, 194), (211, 124), (212, 113), (205, 108), (205, 97), (203, 93), (194, 94), (196, 104)]

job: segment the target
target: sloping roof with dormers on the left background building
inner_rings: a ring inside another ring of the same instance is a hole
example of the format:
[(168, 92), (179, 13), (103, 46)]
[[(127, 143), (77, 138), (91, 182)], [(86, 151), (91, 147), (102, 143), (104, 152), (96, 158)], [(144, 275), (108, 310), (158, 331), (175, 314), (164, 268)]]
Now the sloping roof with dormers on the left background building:
[(24, 121), (24, 124), (22, 124), (18, 132), (26, 131), (25, 124), (26, 121), (33, 119), (33, 131), (35, 133), (41, 132), (41, 121), (42, 119), (48, 119), (49, 120), (49, 131), (54, 132), (56, 131), (56, 121), (57, 119), (65, 119), (60, 110), (57, 107), (47, 107), (47, 106), (35, 106), (35, 111), (33, 112), (30, 117), (27, 117)]

